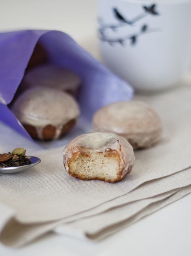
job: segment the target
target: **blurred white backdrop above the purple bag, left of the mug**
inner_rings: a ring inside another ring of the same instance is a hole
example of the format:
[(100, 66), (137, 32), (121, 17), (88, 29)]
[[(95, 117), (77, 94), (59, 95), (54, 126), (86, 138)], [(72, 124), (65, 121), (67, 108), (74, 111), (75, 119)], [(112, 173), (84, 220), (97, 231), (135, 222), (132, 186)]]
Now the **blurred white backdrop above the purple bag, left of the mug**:
[(95, 0), (1, 0), (0, 31), (60, 30), (98, 57)]

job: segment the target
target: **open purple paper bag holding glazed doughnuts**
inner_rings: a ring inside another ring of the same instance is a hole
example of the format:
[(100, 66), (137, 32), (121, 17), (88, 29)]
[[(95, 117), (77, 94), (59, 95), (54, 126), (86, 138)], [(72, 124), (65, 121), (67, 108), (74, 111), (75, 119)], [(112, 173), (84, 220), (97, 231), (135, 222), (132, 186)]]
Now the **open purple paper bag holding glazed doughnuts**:
[(75, 71), (83, 81), (78, 102), (81, 114), (91, 120), (97, 109), (116, 101), (128, 101), (133, 89), (95, 60), (61, 31), (24, 30), (0, 33), (0, 120), (31, 139), (6, 106), (23, 79), (34, 47), (39, 41), (49, 62)]

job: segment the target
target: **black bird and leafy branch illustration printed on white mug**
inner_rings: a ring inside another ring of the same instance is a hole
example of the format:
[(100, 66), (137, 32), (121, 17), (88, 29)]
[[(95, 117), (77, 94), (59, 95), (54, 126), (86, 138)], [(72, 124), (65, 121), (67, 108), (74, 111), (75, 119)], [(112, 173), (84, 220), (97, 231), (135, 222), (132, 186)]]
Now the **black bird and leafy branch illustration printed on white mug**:
[(121, 45), (124, 45), (126, 40), (131, 41), (131, 45), (135, 45), (137, 42), (138, 36), (144, 35), (146, 33), (152, 33), (152, 32), (159, 32), (158, 28), (149, 28), (149, 25), (143, 24), (138, 32), (133, 33), (131, 35), (124, 35), (120, 38), (109, 38), (107, 35), (105, 35), (105, 32), (107, 30), (113, 30), (114, 32), (117, 32), (119, 28), (125, 27), (125, 26), (133, 26), (134, 23), (141, 20), (142, 18), (145, 18), (148, 15), (159, 15), (159, 12), (156, 10), (156, 4), (152, 4), (151, 6), (142, 6), (143, 13), (139, 14), (138, 16), (134, 17), (132, 20), (129, 20), (124, 15), (121, 14), (121, 12), (117, 8), (113, 8), (113, 14), (115, 18), (119, 21), (118, 24), (110, 24), (110, 25), (104, 25), (102, 23), (101, 18), (99, 18), (99, 34), (100, 34), (100, 40), (108, 42), (110, 45), (114, 45), (115, 43), (120, 43)]

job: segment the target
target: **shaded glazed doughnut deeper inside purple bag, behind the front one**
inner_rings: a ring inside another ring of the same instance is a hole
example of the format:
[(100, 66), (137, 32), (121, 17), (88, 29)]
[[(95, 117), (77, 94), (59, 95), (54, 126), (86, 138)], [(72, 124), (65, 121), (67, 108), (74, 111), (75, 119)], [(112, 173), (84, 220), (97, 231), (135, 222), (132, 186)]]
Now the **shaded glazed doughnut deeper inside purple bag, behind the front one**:
[(45, 86), (61, 91), (68, 91), (76, 95), (81, 79), (73, 71), (52, 64), (44, 64), (29, 69), (24, 75), (22, 88)]

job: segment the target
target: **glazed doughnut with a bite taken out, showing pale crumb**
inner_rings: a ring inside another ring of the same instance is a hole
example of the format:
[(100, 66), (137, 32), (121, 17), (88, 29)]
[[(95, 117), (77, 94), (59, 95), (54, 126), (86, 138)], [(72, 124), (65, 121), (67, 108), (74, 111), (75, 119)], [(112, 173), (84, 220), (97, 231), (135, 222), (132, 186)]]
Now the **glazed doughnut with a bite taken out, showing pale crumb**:
[(108, 132), (90, 132), (71, 140), (63, 150), (66, 172), (82, 180), (116, 182), (134, 165), (133, 148), (126, 139)]

